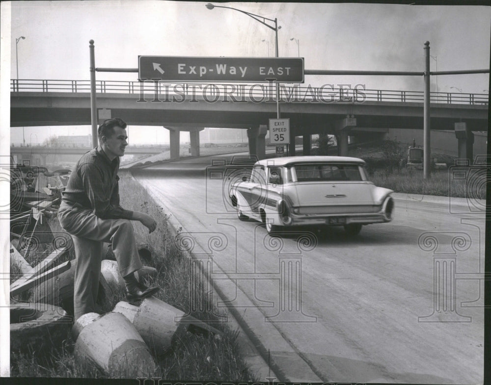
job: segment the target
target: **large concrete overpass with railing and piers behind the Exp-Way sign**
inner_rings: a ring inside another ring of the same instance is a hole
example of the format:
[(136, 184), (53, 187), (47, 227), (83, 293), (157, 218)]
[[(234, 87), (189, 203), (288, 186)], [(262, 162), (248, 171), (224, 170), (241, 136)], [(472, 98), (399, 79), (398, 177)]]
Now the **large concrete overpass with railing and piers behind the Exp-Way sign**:
[[(90, 125), (88, 80), (13, 80), (11, 126)], [(97, 81), (100, 121), (121, 117), (130, 125), (170, 130), (171, 157), (179, 154), (179, 132), (190, 131), (191, 154), (199, 154), (204, 127), (247, 129), (251, 154), (264, 156), (268, 119), (276, 117), (273, 84), (196, 84)], [(488, 129), (488, 95), (432, 93), (431, 129), (456, 130), (467, 157), (472, 131)], [(423, 92), (281, 84), (282, 118), (290, 118), (292, 153), (302, 136), (309, 154), (311, 135), (334, 134), (340, 154), (348, 136), (382, 138), (390, 128), (423, 128)], [(461, 151), (459, 150), (459, 154)]]

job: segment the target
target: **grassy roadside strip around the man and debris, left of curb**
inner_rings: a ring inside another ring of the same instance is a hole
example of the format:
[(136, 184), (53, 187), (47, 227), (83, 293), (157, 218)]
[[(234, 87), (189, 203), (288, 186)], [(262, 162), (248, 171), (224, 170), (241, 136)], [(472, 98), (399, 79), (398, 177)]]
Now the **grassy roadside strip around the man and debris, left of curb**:
[[(120, 178), (121, 205), (131, 210), (144, 211), (158, 223), (157, 230), (149, 234), (143, 225), (133, 222), (137, 242), (146, 243), (155, 251), (153, 259), (148, 263), (144, 262), (158, 271), (155, 280), (148, 284), (161, 288), (156, 295), (157, 298), (188, 312), (191, 304), (191, 259), (176, 247), (175, 238), (167, 226), (168, 216), (162, 212), (162, 208), (155, 204), (150, 195), (137, 181), (131, 179), (129, 174), (121, 172)], [(54, 229), (62, 231), (55, 218), (51, 221)], [(73, 250), (70, 253), (64, 258), (74, 257)], [(11, 269), (18, 272), (15, 266), (11, 266)], [(124, 292), (119, 287), (111, 286), (110, 291), (108, 302), (103, 306), (104, 311), (111, 311), (117, 302), (124, 300)], [(214, 313), (217, 314), (218, 311), (211, 311), (211, 293), (204, 292), (203, 287), (198, 287), (192, 294), (198, 305), (193, 308), (204, 310), (191, 309), (191, 315), (203, 321), (216, 320)], [(32, 292), (30, 295), (32, 300)], [(212, 325), (223, 332), (221, 338), (190, 332), (177, 334), (172, 349), (163, 356), (157, 356), (158, 370), (152, 375), (166, 380), (257, 381), (241, 354), (237, 342), (238, 332), (230, 330), (222, 323)], [(51, 355), (44, 354), (44, 358), (35, 358), (32, 355), (11, 356), (11, 376), (107, 378), (106, 374), (98, 371), (93, 365), (86, 365), (74, 359), (74, 344), (71, 336), (68, 336), (62, 348), (51, 352)]]

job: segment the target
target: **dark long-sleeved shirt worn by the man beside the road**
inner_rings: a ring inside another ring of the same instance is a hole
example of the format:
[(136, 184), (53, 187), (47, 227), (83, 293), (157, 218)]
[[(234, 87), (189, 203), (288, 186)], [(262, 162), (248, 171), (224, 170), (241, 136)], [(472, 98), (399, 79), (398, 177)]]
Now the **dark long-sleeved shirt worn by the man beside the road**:
[(94, 211), (101, 219), (131, 219), (119, 205), (119, 156), (112, 161), (99, 146), (82, 155), (70, 174), (62, 200)]

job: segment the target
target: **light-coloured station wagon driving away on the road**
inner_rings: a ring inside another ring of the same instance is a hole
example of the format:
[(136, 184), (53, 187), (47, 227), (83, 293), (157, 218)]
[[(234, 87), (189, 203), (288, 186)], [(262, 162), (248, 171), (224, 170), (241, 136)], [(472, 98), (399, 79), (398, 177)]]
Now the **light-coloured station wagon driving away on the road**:
[(367, 179), (365, 161), (347, 156), (290, 156), (257, 161), (249, 179), (232, 183), (229, 197), (240, 219), (268, 232), (289, 226), (343, 226), (390, 222), (393, 192)]

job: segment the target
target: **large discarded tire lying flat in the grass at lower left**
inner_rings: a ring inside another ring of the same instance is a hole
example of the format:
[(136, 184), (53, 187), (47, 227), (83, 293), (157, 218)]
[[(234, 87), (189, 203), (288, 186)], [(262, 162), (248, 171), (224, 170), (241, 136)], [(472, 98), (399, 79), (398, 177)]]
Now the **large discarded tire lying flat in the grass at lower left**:
[(62, 346), (73, 319), (60, 307), (41, 303), (10, 306), (10, 351), (44, 354)]

